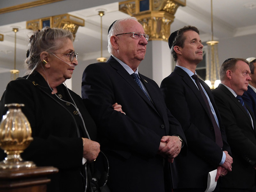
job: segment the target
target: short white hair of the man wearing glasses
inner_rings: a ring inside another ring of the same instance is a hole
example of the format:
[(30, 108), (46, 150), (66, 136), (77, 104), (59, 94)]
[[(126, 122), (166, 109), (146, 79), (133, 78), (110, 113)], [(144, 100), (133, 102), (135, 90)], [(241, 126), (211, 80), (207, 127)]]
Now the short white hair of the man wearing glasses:
[[(113, 36), (113, 35), (115, 36), (119, 33), (124, 33), (124, 27), (120, 23), (125, 22), (127, 20), (137, 21), (137, 19), (135, 17), (128, 17), (128, 18), (124, 18), (124, 19), (119, 19), (119, 20), (116, 20), (116, 22), (112, 25), (111, 29), (109, 30), (109, 33), (108, 33), (108, 52), (110, 54), (113, 54), (113, 47), (110, 43), (110, 37)], [(134, 31), (129, 31), (129, 32), (134, 32)]]

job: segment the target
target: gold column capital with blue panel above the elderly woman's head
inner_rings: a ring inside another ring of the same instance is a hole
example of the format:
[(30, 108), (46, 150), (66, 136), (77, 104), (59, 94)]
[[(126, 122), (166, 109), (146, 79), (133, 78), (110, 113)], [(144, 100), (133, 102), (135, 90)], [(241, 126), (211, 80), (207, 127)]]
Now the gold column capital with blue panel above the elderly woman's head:
[(30, 20), (26, 22), (26, 28), (30, 30), (38, 30), (44, 27), (44, 22), (48, 22), (51, 28), (62, 28), (73, 33), (74, 37), (79, 26), (84, 26), (84, 19), (79, 17), (62, 14), (42, 19)]

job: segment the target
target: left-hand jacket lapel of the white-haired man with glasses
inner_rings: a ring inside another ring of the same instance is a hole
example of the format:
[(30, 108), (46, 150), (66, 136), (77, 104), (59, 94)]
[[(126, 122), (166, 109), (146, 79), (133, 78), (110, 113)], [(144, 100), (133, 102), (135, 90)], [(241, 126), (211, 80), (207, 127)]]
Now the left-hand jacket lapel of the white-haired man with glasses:
[[(115, 60), (112, 56), (110, 56), (109, 60), (107, 61), (113, 68), (116, 69), (116, 72), (128, 83), (131, 85), (131, 87), (140, 95), (140, 97), (151, 107), (156, 111), (156, 108), (153, 106), (152, 102), (148, 100), (145, 93), (141, 90), (139, 85), (134, 81), (132, 76), (123, 68), (123, 66)], [(144, 81), (141, 79), (141, 81)], [(145, 86), (147, 88), (147, 86)], [(147, 88), (148, 90), (148, 88)], [(151, 97), (151, 94), (150, 94)], [(157, 111), (156, 111), (157, 112)], [(158, 112), (157, 112), (158, 113)]]

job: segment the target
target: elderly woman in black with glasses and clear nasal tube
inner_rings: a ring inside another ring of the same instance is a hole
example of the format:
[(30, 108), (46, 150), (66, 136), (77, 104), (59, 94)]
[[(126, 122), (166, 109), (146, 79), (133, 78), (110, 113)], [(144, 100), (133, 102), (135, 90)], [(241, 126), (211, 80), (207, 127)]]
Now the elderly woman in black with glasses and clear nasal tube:
[[(78, 64), (72, 42), (73, 35), (63, 29), (46, 27), (34, 32), (26, 59), (31, 73), (11, 81), (0, 100), (1, 118), (7, 111), (4, 104), (25, 104), (22, 111), (34, 140), (22, 158), (59, 169), (51, 176), (47, 191), (84, 191), (89, 182), (82, 162), (93, 162), (100, 152), (100, 144), (93, 141), (95, 123), (81, 97), (62, 84)], [(121, 111), (119, 105), (113, 107)]]

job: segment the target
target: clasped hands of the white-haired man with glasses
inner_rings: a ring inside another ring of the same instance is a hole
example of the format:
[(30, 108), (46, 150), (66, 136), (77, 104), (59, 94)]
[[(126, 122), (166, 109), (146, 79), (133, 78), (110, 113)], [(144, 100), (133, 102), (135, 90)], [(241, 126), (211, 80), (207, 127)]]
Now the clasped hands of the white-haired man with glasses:
[(176, 156), (179, 155), (182, 142), (177, 136), (163, 136), (158, 148), (158, 154), (167, 157), (168, 162), (173, 163)]

